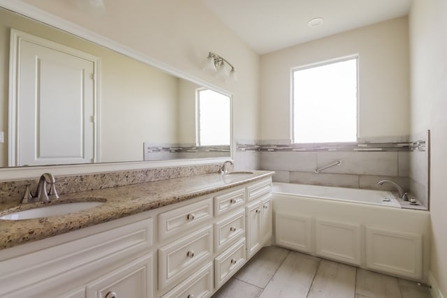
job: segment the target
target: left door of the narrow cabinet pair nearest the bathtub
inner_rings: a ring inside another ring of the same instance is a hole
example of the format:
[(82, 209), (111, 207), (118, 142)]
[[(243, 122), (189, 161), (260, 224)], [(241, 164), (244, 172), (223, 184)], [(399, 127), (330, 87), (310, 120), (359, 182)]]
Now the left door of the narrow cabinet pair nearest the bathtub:
[(261, 200), (245, 207), (247, 228), (247, 260), (262, 247), (261, 244)]

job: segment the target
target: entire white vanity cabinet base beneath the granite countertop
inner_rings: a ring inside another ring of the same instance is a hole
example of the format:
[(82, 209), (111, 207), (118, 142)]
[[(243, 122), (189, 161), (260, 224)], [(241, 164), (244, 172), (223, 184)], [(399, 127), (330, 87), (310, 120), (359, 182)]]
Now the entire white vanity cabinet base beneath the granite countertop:
[(0, 297), (211, 297), (272, 237), (271, 178), (0, 251)]

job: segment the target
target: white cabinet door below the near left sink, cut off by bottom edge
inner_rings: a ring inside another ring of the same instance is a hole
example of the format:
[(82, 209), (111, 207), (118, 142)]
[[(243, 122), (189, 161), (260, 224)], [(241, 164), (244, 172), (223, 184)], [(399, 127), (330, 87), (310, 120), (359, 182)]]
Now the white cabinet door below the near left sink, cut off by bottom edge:
[(144, 255), (87, 285), (87, 298), (152, 298), (152, 255)]

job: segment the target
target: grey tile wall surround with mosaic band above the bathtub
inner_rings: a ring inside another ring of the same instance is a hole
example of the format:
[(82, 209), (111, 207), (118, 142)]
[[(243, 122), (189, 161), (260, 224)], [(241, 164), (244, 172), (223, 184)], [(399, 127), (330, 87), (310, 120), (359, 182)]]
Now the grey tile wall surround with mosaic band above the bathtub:
[[(395, 191), (400, 184), (428, 207), (428, 138), (424, 134), (363, 138), (352, 143), (292, 144), (291, 140), (237, 142), (236, 156), (258, 154), (258, 170), (274, 170), (274, 181)], [(335, 161), (342, 165), (314, 170)]]

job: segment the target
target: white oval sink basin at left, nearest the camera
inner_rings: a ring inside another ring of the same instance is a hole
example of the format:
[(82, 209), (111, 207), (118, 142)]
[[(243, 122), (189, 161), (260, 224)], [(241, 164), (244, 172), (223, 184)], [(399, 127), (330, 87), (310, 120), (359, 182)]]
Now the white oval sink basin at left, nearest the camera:
[(101, 204), (103, 204), (103, 202), (70, 202), (65, 204), (50, 205), (45, 207), (38, 207), (34, 209), (17, 211), (14, 213), (0, 216), (0, 219), (15, 221), (19, 219), (64, 215), (68, 213), (90, 209), (99, 206)]

